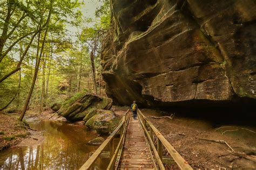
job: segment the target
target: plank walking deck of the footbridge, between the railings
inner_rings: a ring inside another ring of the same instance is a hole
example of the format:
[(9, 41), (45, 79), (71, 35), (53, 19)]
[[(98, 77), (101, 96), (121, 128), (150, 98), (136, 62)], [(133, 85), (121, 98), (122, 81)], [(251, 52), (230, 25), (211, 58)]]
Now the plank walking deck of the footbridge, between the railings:
[(118, 169), (156, 169), (139, 120), (130, 118)]

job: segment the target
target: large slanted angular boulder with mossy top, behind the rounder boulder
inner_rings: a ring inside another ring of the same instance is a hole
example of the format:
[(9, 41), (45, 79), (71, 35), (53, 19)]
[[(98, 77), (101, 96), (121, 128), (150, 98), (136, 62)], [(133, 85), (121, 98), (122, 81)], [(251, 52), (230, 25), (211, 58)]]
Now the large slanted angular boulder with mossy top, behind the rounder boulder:
[(112, 99), (99, 97), (93, 94), (85, 94), (77, 100), (73, 101), (68, 107), (63, 105), (58, 114), (62, 115), (70, 121), (83, 120), (84, 117), (93, 109), (109, 110), (112, 107)]

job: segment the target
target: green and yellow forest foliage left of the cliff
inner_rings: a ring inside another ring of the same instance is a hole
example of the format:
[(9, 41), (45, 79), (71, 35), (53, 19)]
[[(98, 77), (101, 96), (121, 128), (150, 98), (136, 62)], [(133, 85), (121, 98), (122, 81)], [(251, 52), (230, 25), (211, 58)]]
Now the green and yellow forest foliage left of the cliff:
[[(0, 30), (4, 28), (5, 17), (8, 11), (7, 2), (0, 2)], [(96, 19), (87, 18), (86, 21), (86, 16), (83, 16), (80, 8), (83, 3), (80, 3), (78, 0), (14, 2), (12, 9), (15, 10), (10, 17), (7, 30), (10, 36), (3, 44), (3, 52), (13, 42), (16, 42), (17, 39), (28, 32), (38, 30), (39, 25), (43, 29), (41, 32), (42, 39), (48, 13), (52, 6), (42, 61), (28, 108), (36, 108), (38, 110), (41, 98), (44, 98), (44, 106), (50, 107), (54, 103), (70, 104), (81, 97), (83, 93), (92, 92), (90, 42), (97, 37), (95, 42), (97, 50), (100, 51), (105, 33), (99, 35), (99, 30), (105, 32), (105, 29), (108, 29), (110, 26), (109, 1), (99, 1), (102, 3), (102, 6), (95, 12)], [(21, 19), (22, 16), (24, 17), (23, 19)], [(18, 23), (19, 19), (21, 19), (21, 22)], [(93, 24), (89, 24), (91, 22)], [(70, 28), (76, 28), (77, 30), (71, 30)], [(12, 32), (12, 30), (14, 31)], [(2, 32), (0, 31), (0, 37), (1, 34)], [(31, 37), (32, 33), (11, 47), (2, 62), (0, 62), (0, 78), (16, 69), (26, 47), (29, 45)], [(15, 100), (9, 106), (9, 110), (21, 110), (24, 106), (35, 70), (38, 48), (37, 40), (38, 35), (33, 39), (28, 53), (26, 53), (22, 60), (21, 85), (19, 86), (18, 83), (19, 71), (0, 83), (0, 108), (8, 104), (13, 97), (15, 97)], [(39, 42), (39, 50), (41, 46), (42, 40)], [(98, 56), (99, 53), (96, 52), (96, 69), (100, 65), (100, 58)], [(96, 70), (96, 73), (99, 75), (99, 71)], [(43, 83), (45, 87), (42, 97)], [(70, 96), (72, 97), (70, 98)]]

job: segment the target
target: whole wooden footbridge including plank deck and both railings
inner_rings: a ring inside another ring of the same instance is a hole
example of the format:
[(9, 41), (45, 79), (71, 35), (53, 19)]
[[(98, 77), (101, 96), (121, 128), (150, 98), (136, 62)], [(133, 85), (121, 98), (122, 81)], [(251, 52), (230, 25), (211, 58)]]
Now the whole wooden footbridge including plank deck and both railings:
[[(106, 168), (107, 170), (164, 170), (164, 164), (177, 164), (180, 169), (192, 170), (188, 162), (181, 157), (157, 128), (154, 127), (140, 110), (138, 111), (138, 120), (131, 118), (129, 110), (126, 111), (114, 131), (83, 166), (80, 167), (80, 170), (95, 169), (96, 161), (97, 159), (101, 159), (100, 155), (102, 155), (103, 152), (107, 153), (107, 156), (110, 158), (109, 165)], [(118, 145), (115, 146), (114, 139), (117, 135), (120, 136), (120, 140)], [(157, 141), (156, 146), (153, 139)], [(164, 149), (167, 150), (168, 155), (163, 155)]]

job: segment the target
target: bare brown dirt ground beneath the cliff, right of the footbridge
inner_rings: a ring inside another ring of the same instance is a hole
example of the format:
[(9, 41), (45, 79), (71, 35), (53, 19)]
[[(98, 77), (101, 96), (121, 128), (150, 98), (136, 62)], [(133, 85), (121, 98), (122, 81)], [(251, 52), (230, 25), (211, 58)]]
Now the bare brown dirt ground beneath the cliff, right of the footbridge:
[[(115, 107), (115, 110), (124, 111), (127, 110), (127, 108), (128, 107)], [(158, 127), (161, 134), (164, 135), (170, 144), (174, 146), (183, 158), (195, 169), (256, 168), (255, 161), (233, 155), (231, 152), (228, 152), (228, 150), (231, 149), (227, 145), (200, 140), (225, 140), (235, 152), (248, 154), (254, 159), (256, 158), (255, 127), (240, 125), (212, 127), (209, 121), (180, 117), (179, 114), (176, 114), (174, 119), (171, 120), (167, 118), (154, 119), (149, 117), (150, 115), (166, 115), (160, 111), (142, 109), (142, 112), (149, 118), (154, 126)], [(176, 168), (177, 166), (170, 167), (170, 169)]]

